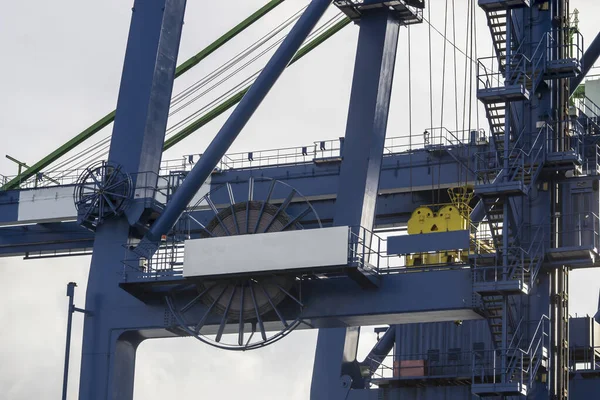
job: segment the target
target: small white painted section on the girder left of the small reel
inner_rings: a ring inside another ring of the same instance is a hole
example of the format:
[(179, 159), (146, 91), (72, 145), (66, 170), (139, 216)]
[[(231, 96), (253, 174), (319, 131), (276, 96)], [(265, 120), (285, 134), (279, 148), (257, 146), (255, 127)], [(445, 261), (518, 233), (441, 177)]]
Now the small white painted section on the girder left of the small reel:
[(19, 222), (64, 221), (77, 218), (73, 186), (21, 190)]

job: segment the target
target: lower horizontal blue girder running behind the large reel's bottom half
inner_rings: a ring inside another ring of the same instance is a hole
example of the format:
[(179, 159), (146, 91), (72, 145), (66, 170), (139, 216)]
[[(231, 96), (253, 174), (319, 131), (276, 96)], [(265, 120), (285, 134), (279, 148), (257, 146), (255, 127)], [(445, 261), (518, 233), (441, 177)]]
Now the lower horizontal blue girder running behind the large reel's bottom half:
[[(427, 321), (480, 319), (481, 316), (473, 311), (471, 271), (463, 268), (437, 273), (440, 279), (434, 281), (431, 281), (429, 272), (412, 271), (382, 275), (381, 287), (377, 290), (376, 296), (373, 291), (362, 289), (352, 279), (346, 277), (306, 281), (302, 283), (304, 307), (301, 317), (309, 326), (315, 328), (356, 327), (387, 322), (410, 324)], [(142, 284), (123, 282), (121, 287), (143, 299), (145, 304), (150, 307), (153, 304), (160, 304), (169, 288), (183, 282), (185, 280), (181, 279), (164, 280), (163, 282), (146, 281)], [(123, 290), (121, 292), (125, 293)], [(431, 293), (441, 292), (444, 293), (444, 297), (431, 296)], [(185, 293), (190, 300), (197, 295), (198, 292), (193, 290)], [(157, 319), (157, 315), (154, 314), (157, 311), (152, 307), (144, 311), (141, 303), (137, 301), (135, 303), (138, 304), (130, 304), (133, 307), (130, 312), (135, 311), (141, 315), (132, 318), (130, 322), (125, 320), (125, 315), (120, 315), (118, 317), (120, 328), (127, 330), (145, 328), (147, 332), (159, 330), (155, 332), (157, 336), (172, 335), (168, 332), (160, 332), (160, 329), (165, 327), (165, 321)], [(208, 307), (208, 305), (196, 306), (189, 312), (190, 319), (188, 321), (194, 322), (193, 318), (199, 321)], [(282, 304), (278, 308), (286, 319), (297, 317), (297, 311), (293, 305)], [(123, 312), (123, 314), (125, 313)], [(265, 314), (262, 319), (267, 327), (279, 323), (278, 316), (273, 314)], [(221, 318), (213, 315), (209, 316), (205, 322), (206, 334), (214, 334), (219, 329)], [(229, 321), (226, 332), (230, 327), (237, 328), (237, 321)], [(335, 329), (324, 329), (323, 331), (335, 331)], [(325, 352), (323, 357), (327, 358), (328, 355), (331, 353)], [(340, 365), (338, 358), (336, 367), (338, 372)]]

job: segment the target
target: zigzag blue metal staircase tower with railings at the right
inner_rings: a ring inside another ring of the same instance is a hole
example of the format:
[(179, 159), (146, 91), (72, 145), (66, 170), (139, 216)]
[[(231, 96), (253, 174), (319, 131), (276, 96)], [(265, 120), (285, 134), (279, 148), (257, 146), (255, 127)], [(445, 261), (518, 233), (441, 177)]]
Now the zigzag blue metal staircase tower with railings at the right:
[(529, 294), (541, 269), (545, 255), (541, 222), (547, 222), (540, 221), (537, 227), (518, 222), (518, 199), (536, 184), (548, 149), (548, 128), (525, 129), (517, 111), (516, 102), (529, 100), (543, 84), (547, 66), (546, 36), (533, 51), (511, 40), (522, 37), (510, 19), (511, 8), (529, 5), (527, 0), (479, 0), (495, 57), (478, 61), (477, 95), (485, 106), (494, 151), (476, 157), (474, 192), (486, 215), (487, 224), (480, 230), (489, 230), (495, 253), (476, 255), (473, 290), (481, 298), (495, 351), (491, 368), (481, 369), (477, 377), (474, 371), (472, 393), (478, 396), (526, 397), (548, 359), (547, 318), (526, 329), (523, 319), (517, 323), (520, 311), (515, 302), (516, 296)]

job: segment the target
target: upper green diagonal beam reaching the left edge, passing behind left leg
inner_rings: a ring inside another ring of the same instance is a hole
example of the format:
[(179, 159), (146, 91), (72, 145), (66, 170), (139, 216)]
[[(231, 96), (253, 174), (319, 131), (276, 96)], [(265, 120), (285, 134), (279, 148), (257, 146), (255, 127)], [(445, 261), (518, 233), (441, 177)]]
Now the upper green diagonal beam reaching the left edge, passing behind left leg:
[[(175, 70), (175, 78), (183, 75), (191, 68), (196, 66), (200, 61), (208, 57), (210, 54), (215, 52), (218, 48), (223, 46), (225, 43), (229, 42), (240, 32), (244, 31), (254, 22), (258, 21), (269, 11), (283, 3), (284, 0), (271, 0), (262, 8), (257, 10), (254, 14), (250, 15), (248, 18), (231, 28), (227, 33), (223, 36), (212, 42), (206, 48), (202, 49), (195, 56), (191, 57), (189, 60), (185, 61)], [(48, 165), (52, 164), (54, 161), (58, 160), (60, 157), (67, 154), (69, 151), (73, 150), (75, 147), (91, 138), (93, 135), (98, 133), (104, 127), (109, 125), (115, 119), (115, 111), (110, 112), (105, 117), (94, 123), (92, 126), (79, 133), (77, 136), (69, 140), (67, 143), (60, 146), (58, 149), (54, 150), (52, 153), (48, 154), (46, 157), (42, 158), (40, 161), (33, 164), (31, 167), (27, 168), (22, 173), (19, 173), (16, 177), (8, 181), (0, 190), (8, 190), (15, 189), (19, 187), (21, 182), (26, 181), (33, 175), (40, 172), (43, 168), (46, 168)]]

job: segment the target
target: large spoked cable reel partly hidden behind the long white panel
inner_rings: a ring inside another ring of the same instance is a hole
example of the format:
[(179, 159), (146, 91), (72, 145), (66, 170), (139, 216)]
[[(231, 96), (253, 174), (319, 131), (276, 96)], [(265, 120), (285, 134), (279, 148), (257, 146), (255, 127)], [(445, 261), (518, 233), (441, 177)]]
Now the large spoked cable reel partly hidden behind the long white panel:
[[(255, 185), (266, 189), (264, 199), (255, 199)], [(190, 211), (176, 226), (185, 227), (186, 237), (202, 239), (303, 229), (303, 222), (321, 227), (308, 200), (289, 185), (261, 179), (250, 180), (248, 188), (242, 202), (235, 201), (230, 184), (214, 189), (192, 207), (210, 210), (206, 225)], [(204, 343), (255, 349), (283, 338), (302, 322), (301, 276), (274, 272), (193, 279), (171, 291), (166, 302), (179, 328)]]

